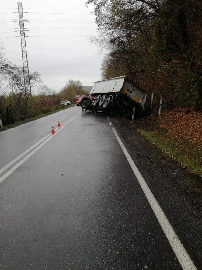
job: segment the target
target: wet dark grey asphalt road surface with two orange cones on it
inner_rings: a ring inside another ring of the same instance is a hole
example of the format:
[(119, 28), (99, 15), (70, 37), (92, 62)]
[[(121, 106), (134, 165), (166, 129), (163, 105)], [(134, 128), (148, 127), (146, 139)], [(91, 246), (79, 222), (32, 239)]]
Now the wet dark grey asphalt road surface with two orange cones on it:
[[(80, 110), (0, 133), (0, 169)], [(182, 269), (102, 114), (78, 114), (6, 177), (0, 212), (1, 270)]]

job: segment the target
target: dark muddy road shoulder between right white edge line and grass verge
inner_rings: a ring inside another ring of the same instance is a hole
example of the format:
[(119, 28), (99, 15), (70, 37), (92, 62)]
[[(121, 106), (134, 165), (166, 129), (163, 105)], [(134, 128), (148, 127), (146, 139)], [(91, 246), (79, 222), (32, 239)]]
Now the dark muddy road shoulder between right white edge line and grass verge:
[(200, 177), (181, 169), (180, 164), (166, 156), (138, 131), (130, 128), (130, 121), (110, 117), (132, 159), (149, 188), (170, 220), (186, 248), (202, 264), (201, 209), (202, 201), (189, 192), (202, 188)]

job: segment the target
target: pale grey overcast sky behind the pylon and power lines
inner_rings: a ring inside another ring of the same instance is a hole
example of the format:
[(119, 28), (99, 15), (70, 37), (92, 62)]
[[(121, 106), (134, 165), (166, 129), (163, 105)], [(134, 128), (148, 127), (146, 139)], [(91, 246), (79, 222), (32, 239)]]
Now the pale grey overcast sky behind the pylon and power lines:
[[(87, 8), (85, 1), (22, 2), (23, 11), (28, 12), (24, 13), (24, 19), (29, 20), (25, 23), (29, 30), (26, 32), (29, 70), (40, 72), (44, 84), (57, 92), (68, 79), (80, 80), (84, 86), (100, 80), (103, 55), (89, 42), (88, 36), (96, 35), (97, 27), (91, 14), (93, 5)], [(0, 42), (6, 58), (22, 66), (19, 32), (15, 33), (19, 30), (17, 2), (0, 0), (0, 8)]]

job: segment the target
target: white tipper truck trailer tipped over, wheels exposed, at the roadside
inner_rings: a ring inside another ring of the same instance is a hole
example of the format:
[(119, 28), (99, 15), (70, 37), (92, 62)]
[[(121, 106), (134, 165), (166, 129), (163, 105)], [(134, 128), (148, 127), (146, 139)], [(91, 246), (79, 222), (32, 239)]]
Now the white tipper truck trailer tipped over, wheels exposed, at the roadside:
[(107, 111), (110, 114), (132, 113), (133, 108), (144, 109), (147, 93), (127, 76), (94, 83), (90, 97), (84, 97), (80, 105), (92, 112)]

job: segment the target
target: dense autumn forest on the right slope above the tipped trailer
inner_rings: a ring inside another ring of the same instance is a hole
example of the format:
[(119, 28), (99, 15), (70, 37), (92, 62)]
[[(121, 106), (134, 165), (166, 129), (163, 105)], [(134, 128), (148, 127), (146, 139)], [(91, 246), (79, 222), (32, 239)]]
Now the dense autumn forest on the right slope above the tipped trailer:
[(88, 0), (103, 58), (103, 79), (127, 75), (163, 108), (202, 109), (200, 0)]

